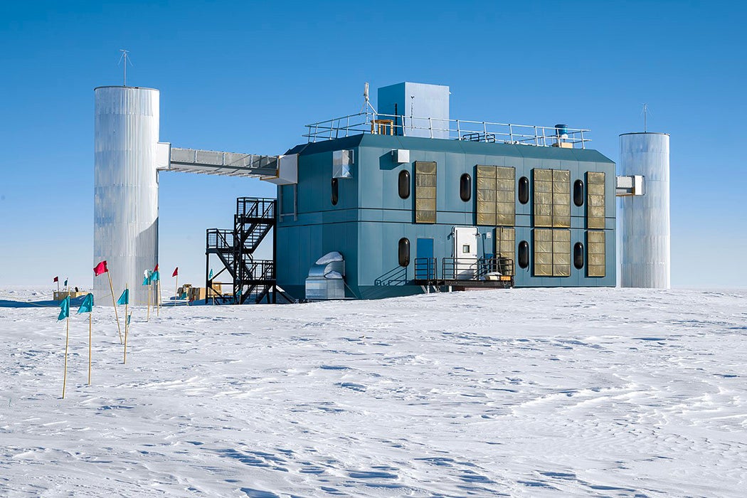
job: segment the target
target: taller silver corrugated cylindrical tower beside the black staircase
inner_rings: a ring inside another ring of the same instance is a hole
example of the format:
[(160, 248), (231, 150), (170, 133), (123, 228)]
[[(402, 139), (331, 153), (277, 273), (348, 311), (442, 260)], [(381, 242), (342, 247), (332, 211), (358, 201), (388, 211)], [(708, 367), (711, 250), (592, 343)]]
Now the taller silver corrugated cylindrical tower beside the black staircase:
[[(130, 304), (144, 305), (143, 270), (158, 258), (158, 90), (93, 91), (93, 264), (108, 262), (115, 297), (129, 285)], [(108, 278), (93, 281), (96, 304), (111, 304)]]

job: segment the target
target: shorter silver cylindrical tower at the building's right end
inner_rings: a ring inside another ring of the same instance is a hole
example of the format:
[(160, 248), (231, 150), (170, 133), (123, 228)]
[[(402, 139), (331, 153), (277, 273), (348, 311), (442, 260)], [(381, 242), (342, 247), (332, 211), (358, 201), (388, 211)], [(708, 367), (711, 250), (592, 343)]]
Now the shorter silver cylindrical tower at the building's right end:
[(620, 135), (620, 175), (642, 175), (645, 194), (620, 197), (622, 287), (669, 289), (669, 135)]

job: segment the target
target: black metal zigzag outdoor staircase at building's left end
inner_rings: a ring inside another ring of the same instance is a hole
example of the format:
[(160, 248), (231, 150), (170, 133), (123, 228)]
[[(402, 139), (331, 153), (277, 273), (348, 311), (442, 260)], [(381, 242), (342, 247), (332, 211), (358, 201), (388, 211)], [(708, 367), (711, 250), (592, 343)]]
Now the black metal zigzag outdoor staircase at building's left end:
[[(208, 228), (205, 246), (205, 302), (243, 305), (246, 302), (274, 303), (277, 288), (276, 259), (276, 200), (257, 197), (236, 199), (233, 230)], [(254, 253), (263, 240), (273, 232), (273, 259), (255, 259)], [(223, 265), (210, 275), (210, 257), (216, 255)], [(232, 278), (232, 293), (225, 293), (217, 277), (228, 273)]]

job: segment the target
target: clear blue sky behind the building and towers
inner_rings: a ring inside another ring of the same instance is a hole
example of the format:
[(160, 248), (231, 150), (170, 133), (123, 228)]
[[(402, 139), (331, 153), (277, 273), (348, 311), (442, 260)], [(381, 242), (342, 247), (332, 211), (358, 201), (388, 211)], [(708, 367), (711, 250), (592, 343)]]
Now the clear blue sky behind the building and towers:
[[(728, 1), (3, 2), (0, 287), (92, 282), (93, 88), (161, 90), (161, 140), (279, 154), (362, 86), (450, 86), (451, 116), (672, 135), (672, 284), (747, 285), (747, 7)], [(160, 263), (204, 278), (205, 228), (255, 180), (161, 175)]]

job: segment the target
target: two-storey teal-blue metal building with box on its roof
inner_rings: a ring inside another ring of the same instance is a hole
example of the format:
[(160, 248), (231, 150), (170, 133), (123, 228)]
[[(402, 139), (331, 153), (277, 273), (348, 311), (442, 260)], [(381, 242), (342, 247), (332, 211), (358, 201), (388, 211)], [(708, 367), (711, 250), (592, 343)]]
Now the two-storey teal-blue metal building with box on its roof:
[[(379, 89), (386, 114), (310, 125), (309, 143), (285, 154), (280, 287), (307, 297), (309, 270), (329, 252), (359, 299), (432, 284), (615, 286), (615, 164), (585, 148), (586, 130), (460, 122), (432, 102), (448, 102), (448, 87), (420, 85), (429, 93), (418, 99), (408, 85)], [(426, 103), (441, 115), (415, 117)]]

